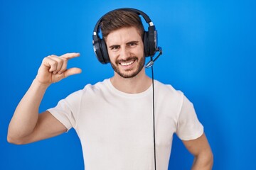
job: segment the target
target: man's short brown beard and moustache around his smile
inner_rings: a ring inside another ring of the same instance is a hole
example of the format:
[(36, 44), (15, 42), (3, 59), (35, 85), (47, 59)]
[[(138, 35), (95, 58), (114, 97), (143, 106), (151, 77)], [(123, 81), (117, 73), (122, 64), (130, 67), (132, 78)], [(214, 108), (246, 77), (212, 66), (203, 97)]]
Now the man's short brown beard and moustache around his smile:
[[(127, 62), (127, 61), (132, 61), (132, 60), (137, 60), (139, 62), (138, 67), (134, 70), (134, 72), (132, 72), (132, 69), (127, 69), (124, 72), (121, 72), (118, 69), (118, 65), (120, 62)], [(141, 58), (141, 60), (138, 59), (138, 57), (129, 57), (127, 58), (127, 60), (117, 60), (115, 62), (115, 64), (113, 62), (110, 62), (112, 68), (114, 69), (114, 72), (117, 72), (117, 74), (119, 74), (120, 77), (123, 77), (124, 79), (128, 79), (128, 78), (132, 78), (137, 76), (137, 74), (139, 74), (139, 72), (142, 71), (144, 64), (145, 64), (145, 57)]]

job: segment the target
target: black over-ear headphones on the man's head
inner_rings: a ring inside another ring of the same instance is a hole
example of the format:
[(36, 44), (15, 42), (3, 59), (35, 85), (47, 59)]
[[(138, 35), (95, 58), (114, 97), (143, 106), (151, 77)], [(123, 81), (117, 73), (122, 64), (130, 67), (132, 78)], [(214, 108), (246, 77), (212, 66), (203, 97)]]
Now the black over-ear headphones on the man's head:
[[(139, 11), (135, 8), (118, 8), (113, 11), (131, 11), (134, 13), (137, 13), (138, 15), (141, 15), (146, 23), (149, 24), (149, 28), (147, 31), (144, 30), (143, 35), (143, 43), (144, 43), (144, 55), (146, 57), (152, 57), (157, 51), (157, 31), (156, 28), (149, 18), (149, 16), (146, 15), (146, 13)], [(112, 12), (112, 11), (110, 11)], [(110, 13), (108, 12), (108, 13)], [(104, 15), (106, 16), (107, 13)], [(104, 17), (102, 16), (102, 18)], [(99, 60), (102, 64), (107, 64), (110, 62), (110, 57), (107, 52), (107, 45), (103, 38), (100, 38), (100, 23), (102, 21), (102, 18), (100, 18), (99, 21), (97, 21), (95, 28), (93, 30), (92, 34), (92, 45), (93, 49), (95, 51), (95, 55), (97, 57), (97, 60)]]

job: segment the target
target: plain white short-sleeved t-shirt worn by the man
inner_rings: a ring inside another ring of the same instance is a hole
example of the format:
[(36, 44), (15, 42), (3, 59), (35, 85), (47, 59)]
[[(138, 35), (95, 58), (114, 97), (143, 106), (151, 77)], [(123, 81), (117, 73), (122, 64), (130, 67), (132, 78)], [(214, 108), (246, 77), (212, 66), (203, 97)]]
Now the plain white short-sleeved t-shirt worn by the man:
[[(203, 135), (193, 104), (171, 85), (154, 81), (157, 169), (168, 169), (173, 134)], [(114, 88), (110, 79), (70, 94), (48, 111), (80, 137), (86, 170), (154, 169), (152, 86), (139, 94)]]

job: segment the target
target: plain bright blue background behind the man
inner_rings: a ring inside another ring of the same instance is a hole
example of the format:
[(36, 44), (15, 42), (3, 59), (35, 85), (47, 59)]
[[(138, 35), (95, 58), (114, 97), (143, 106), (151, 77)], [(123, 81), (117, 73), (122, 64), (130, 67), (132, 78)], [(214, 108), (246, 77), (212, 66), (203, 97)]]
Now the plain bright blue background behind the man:
[[(69, 67), (82, 74), (50, 86), (40, 111), (112, 76), (110, 64), (100, 64), (92, 50), (92, 29), (120, 7), (138, 8), (154, 21), (164, 50), (154, 76), (193, 102), (213, 149), (213, 169), (256, 169), (256, 1), (246, 0), (1, 0), (0, 169), (83, 169), (75, 130), (17, 146), (6, 142), (7, 129), (43, 57), (80, 52)], [(192, 161), (175, 135), (169, 169), (189, 169)]]

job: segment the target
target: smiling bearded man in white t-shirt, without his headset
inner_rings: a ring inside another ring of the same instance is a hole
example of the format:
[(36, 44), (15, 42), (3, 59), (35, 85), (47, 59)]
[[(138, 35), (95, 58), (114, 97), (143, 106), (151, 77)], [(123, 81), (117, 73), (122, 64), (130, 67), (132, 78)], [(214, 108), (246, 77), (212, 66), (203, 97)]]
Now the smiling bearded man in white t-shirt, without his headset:
[(156, 169), (168, 169), (176, 132), (195, 157), (192, 169), (211, 169), (213, 154), (193, 105), (181, 91), (156, 80), (154, 154), (153, 88), (151, 78), (145, 74), (146, 33), (138, 13), (111, 11), (99, 24), (114, 76), (95, 85), (87, 84), (59, 101), (55, 108), (38, 114), (50, 84), (81, 72), (79, 68), (67, 69), (68, 60), (79, 53), (44, 58), (11, 119), (8, 141), (26, 144), (75, 128), (82, 144), (85, 169), (149, 170), (154, 169), (155, 163)]

